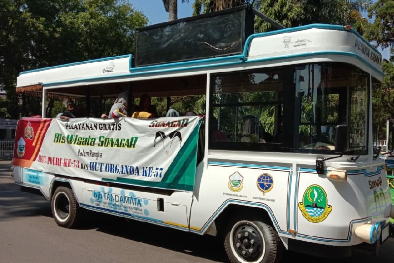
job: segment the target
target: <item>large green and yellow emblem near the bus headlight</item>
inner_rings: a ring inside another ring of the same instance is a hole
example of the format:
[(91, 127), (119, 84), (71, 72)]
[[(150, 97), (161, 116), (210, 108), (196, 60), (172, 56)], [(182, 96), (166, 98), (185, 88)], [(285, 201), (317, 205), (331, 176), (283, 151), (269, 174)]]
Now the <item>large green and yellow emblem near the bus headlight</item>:
[(332, 206), (327, 203), (326, 191), (318, 185), (311, 185), (306, 188), (302, 202), (298, 207), (306, 220), (319, 223), (328, 217), (332, 211)]

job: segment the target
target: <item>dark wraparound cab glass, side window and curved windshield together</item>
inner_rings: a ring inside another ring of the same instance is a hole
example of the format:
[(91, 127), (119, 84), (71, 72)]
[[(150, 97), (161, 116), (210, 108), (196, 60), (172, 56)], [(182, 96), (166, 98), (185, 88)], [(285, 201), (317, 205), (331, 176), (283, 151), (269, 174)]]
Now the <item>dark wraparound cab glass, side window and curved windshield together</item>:
[(210, 146), (217, 150), (366, 154), (369, 75), (345, 63), (219, 73), (211, 77)]

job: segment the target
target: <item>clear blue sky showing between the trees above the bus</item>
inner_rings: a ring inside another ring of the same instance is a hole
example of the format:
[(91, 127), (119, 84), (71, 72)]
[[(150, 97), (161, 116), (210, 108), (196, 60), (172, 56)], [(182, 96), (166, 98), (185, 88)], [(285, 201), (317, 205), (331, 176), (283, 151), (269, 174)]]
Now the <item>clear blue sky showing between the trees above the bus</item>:
[[(129, 0), (133, 7), (141, 11), (146, 15), (149, 22), (148, 25), (154, 25), (158, 23), (164, 23), (168, 21), (168, 13), (165, 12), (163, 0)], [(182, 3), (178, 0), (178, 19), (190, 17), (193, 15), (193, 4), (194, 0), (185, 1)], [(363, 13), (364, 16), (366, 14)], [(380, 47), (378, 51), (382, 54), (382, 57), (389, 59), (389, 50), (382, 50)]]

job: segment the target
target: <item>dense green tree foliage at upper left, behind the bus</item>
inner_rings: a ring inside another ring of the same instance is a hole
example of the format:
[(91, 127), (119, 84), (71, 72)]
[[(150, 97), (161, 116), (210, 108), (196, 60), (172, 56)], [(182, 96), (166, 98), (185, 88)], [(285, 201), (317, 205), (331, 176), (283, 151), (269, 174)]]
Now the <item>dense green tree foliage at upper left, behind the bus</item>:
[[(124, 0), (1, 0), (0, 87), (12, 101), (20, 72), (130, 54), (147, 18)], [(24, 113), (27, 114), (27, 113)]]

